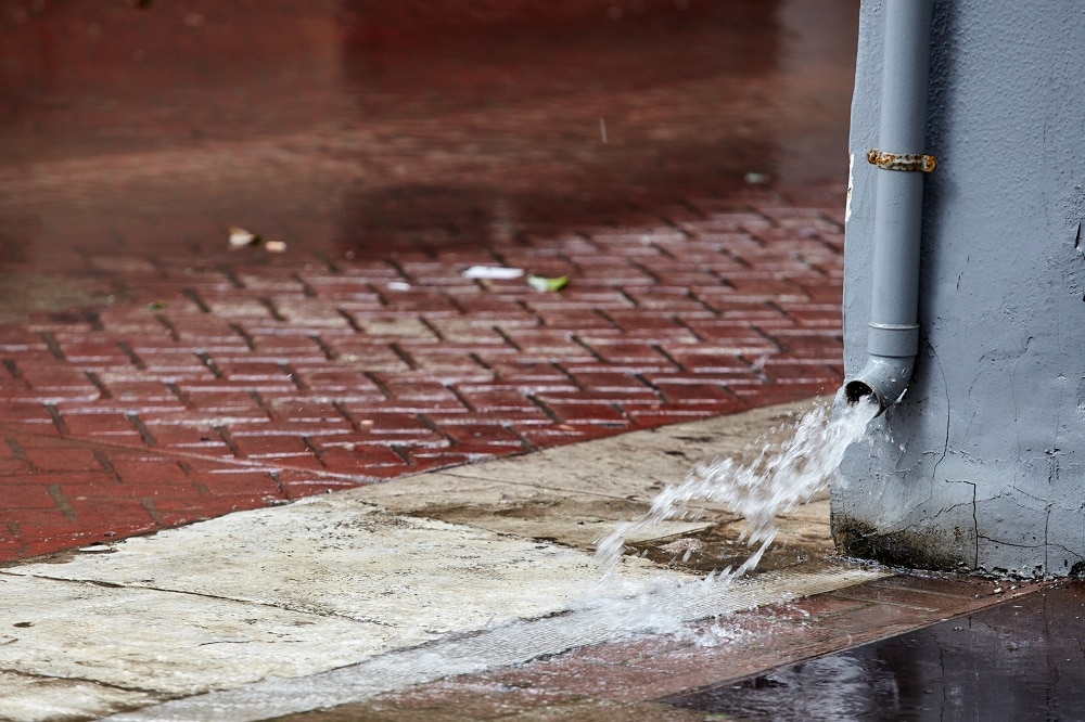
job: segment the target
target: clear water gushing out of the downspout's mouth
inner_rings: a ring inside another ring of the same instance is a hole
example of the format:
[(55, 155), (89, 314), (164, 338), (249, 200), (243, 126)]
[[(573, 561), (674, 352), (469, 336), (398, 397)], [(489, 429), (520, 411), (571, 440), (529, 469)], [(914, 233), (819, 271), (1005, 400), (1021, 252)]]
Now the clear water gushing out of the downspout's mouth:
[(779, 533), (777, 517), (829, 485), (844, 452), (864, 437), (877, 413), (876, 403), (859, 402), (839, 408), (830, 418), (828, 407), (821, 405), (803, 416), (790, 439), (766, 444), (752, 463), (725, 459), (698, 464), (682, 484), (660, 492), (644, 516), (621, 525), (599, 542), (596, 558), (603, 579), (617, 572), (627, 537), (666, 519), (690, 518), (690, 503), (697, 500), (727, 504), (745, 521), (740, 541), (756, 547), (738, 568), (724, 569), (716, 580), (751, 571)]

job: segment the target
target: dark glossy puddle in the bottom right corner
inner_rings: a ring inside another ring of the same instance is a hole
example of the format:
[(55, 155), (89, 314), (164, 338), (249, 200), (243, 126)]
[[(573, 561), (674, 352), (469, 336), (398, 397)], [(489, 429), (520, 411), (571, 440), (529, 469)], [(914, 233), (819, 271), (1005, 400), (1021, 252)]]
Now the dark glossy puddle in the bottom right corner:
[(1071, 582), (667, 701), (743, 720), (1083, 719), (1083, 614)]

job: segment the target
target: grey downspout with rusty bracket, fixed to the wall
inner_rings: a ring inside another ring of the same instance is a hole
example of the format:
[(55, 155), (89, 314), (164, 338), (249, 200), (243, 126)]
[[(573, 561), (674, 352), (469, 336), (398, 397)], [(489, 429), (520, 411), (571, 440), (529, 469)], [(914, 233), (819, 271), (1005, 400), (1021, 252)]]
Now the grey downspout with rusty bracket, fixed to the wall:
[(919, 353), (919, 248), (933, 0), (885, 0), (884, 62), (875, 199), (869, 358), (844, 384), (850, 403), (873, 397), (882, 411), (908, 387)]

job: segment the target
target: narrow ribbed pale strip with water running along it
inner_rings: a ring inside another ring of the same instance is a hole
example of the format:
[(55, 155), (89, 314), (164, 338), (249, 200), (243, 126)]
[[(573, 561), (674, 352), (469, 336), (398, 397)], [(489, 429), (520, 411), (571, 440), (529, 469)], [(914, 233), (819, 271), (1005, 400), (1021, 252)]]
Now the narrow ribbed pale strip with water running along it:
[(110, 718), (111, 722), (267, 720), (348, 704), (458, 674), (522, 665), (634, 632), (676, 632), (681, 624), (859, 584), (886, 576), (869, 569), (831, 568), (767, 573), (725, 584), (656, 589), (636, 597), (601, 598), (570, 614), (480, 630), (472, 635), (375, 657), (308, 678), (267, 680), (189, 697)]

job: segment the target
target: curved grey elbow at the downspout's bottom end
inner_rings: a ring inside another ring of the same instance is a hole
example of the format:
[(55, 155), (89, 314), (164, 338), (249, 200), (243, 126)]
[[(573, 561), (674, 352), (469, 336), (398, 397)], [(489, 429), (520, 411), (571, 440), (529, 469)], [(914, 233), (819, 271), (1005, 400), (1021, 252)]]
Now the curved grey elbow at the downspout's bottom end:
[(919, 325), (871, 323), (867, 348), (866, 365), (844, 383), (844, 399), (858, 403), (870, 398), (881, 413), (908, 388), (919, 349)]

